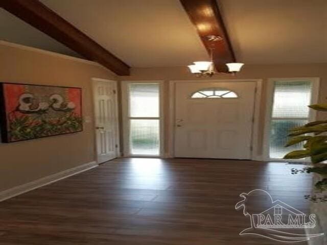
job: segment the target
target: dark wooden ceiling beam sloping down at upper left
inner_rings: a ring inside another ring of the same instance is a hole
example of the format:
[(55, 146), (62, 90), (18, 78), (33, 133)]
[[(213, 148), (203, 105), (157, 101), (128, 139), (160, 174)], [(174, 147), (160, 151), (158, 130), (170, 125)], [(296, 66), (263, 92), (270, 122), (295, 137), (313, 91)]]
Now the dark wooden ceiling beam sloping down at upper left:
[(1, 0), (0, 7), (116, 75), (130, 75), (130, 67), (96, 41), (38, 0)]

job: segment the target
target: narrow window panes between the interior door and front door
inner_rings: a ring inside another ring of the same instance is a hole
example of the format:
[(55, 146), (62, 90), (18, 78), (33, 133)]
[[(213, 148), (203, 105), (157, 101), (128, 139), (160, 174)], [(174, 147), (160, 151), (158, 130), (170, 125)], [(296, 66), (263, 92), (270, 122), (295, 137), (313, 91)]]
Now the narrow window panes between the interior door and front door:
[(158, 83), (129, 84), (130, 155), (160, 155)]

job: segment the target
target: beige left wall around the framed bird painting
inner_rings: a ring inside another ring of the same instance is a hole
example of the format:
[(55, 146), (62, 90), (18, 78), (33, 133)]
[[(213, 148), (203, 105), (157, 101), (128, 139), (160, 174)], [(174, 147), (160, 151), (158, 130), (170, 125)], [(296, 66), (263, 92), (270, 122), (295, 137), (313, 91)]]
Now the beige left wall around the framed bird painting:
[[(8, 46), (0, 42), (0, 81), (83, 88), (83, 115), (92, 118), (91, 78), (114, 79), (91, 62)], [(0, 143), (0, 190), (95, 160), (94, 125), (61, 136)]]

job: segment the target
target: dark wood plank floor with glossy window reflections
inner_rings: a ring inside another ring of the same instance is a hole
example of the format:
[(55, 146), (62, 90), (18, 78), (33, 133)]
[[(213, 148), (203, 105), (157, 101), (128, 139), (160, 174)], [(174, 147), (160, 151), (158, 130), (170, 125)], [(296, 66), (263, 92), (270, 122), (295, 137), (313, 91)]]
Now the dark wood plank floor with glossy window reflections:
[(0, 203), (0, 244), (281, 244), (240, 236), (250, 222), (235, 204), (260, 188), (308, 212), (310, 175), (291, 175), (292, 167), (302, 166), (116, 159)]

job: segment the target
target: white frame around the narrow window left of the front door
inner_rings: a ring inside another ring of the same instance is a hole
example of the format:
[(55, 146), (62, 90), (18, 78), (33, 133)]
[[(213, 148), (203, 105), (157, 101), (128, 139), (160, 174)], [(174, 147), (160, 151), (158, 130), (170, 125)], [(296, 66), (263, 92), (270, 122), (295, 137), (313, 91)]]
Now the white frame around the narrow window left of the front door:
[[(123, 156), (124, 157), (142, 157), (142, 158), (160, 158), (164, 157), (165, 151), (165, 113), (164, 113), (164, 80), (125, 80), (121, 81), (122, 98), (122, 118), (123, 118)], [(129, 91), (128, 84), (139, 83), (158, 83), (159, 84), (159, 134), (160, 149), (158, 156), (149, 155), (131, 155), (129, 149)]]

